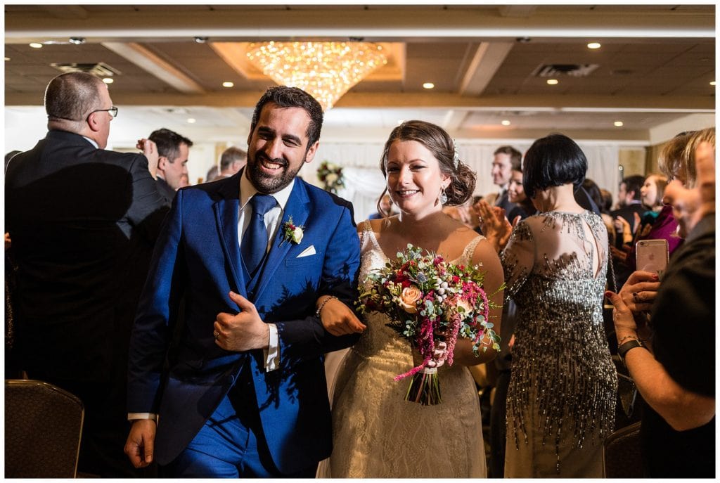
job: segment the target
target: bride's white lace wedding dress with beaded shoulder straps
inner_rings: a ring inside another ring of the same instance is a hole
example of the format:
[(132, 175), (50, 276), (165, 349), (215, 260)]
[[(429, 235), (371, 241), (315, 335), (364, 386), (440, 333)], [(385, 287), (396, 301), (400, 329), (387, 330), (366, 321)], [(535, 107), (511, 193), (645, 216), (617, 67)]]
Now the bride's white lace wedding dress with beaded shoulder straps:
[[(470, 263), (479, 236), (454, 263)], [(382, 268), (369, 223), (363, 225), (360, 280)], [(487, 476), (480, 402), (467, 367), (438, 371), (442, 404), (406, 402), (413, 367), (410, 344), (387, 328), (386, 315), (366, 315), (367, 330), (338, 369), (333, 397), (333, 453), (320, 477), (482, 478)], [(329, 474), (328, 474), (329, 466)]]

